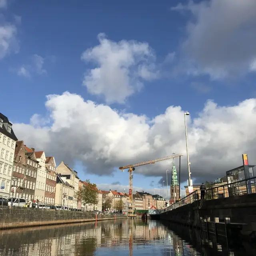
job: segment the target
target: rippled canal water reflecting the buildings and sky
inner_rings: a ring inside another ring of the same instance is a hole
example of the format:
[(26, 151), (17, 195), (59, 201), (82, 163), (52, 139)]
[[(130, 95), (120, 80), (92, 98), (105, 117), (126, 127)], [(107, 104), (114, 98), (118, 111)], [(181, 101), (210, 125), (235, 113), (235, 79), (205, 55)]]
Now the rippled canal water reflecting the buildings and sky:
[(200, 230), (119, 219), (0, 231), (0, 256), (256, 255), (255, 244), (202, 237)]

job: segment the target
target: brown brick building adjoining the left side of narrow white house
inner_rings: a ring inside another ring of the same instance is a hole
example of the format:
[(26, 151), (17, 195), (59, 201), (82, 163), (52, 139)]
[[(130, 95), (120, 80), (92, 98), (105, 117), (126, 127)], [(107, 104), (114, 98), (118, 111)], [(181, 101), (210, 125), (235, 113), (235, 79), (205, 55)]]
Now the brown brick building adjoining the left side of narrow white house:
[(30, 200), (34, 199), (36, 190), (36, 177), (38, 170), (38, 161), (36, 160), (35, 149), (24, 145), (26, 168), (24, 172), (24, 186), (22, 197)]

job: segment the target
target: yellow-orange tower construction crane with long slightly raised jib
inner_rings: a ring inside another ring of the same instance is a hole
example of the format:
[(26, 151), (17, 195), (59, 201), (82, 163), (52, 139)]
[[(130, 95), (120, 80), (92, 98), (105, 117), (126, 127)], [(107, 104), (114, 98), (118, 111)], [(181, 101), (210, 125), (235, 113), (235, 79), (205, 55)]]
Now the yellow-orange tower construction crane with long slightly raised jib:
[(127, 166), (119, 167), (119, 170), (122, 170), (122, 172), (124, 172), (125, 169), (129, 169), (128, 170), (128, 172), (129, 172), (129, 202), (130, 202), (130, 206), (132, 206), (132, 209), (133, 209), (132, 180), (133, 180), (133, 171), (135, 170), (135, 167), (146, 165), (146, 164), (155, 164), (156, 162), (173, 159), (173, 158), (176, 158), (179, 156), (182, 156), (182, 154), (176, 154), (176, 155), (173, 154), (172, 156), (165, 156), (165, 157), (157, 158), (154, 160), (148, 160), (148, 161), (140, 162), (137, 164), (129, 164)]

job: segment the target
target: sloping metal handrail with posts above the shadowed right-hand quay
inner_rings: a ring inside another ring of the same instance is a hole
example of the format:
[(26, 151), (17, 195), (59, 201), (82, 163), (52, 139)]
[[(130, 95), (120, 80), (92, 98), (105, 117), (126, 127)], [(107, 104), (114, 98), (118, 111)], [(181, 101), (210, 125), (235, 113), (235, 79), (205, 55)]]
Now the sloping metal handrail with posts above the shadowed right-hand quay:
[[(239, 181), (236, 181), (236, 182), (232, 182), (232, 183), (227, 183), (227, 184), (223, 184), (223, 185), (220, 185), (220, 186), (214, 186), (212, 188), (208, 188), (205, 190), (205, 195), (206, 197), (207, 196), (210, 196), (209, 199), (216, 199), (214, 198), (216, 195), (219, 195), (219, 194), (222, 194), (224, 197), (229, 197), (229, 196), (232, 196), (229, 194), (229, 188), (238, 188), (238, 195), (242, 195), (242, 194), (245, 194), (244, 193), (244, 189), (240, 190), (239, 188), (241, 186), (239, 186), (239, 183), (242, 183), (242, 182), (245, 182), (245, 184), (242, 184), (242, 186), (246, 186), (246, 194), (248, 194), (248, 185), (253, 185), (254, 184), (254, 191), (252, 193), (256, 193), (256, 182), (255, 182), (255, 179), (256, 177), (252, 177), (252, 178), (248, 178), (248, 179), (244, 179), (244, 180), (239, 180)], [(248, 183), (248, 181), (250, 180), (254, 180), (254, 182), (252, 183)], [(238, 186), (232, 186), (234, 184), (238, 184)], [(225, 187), (227, 187), (227, 191), (225, 192)], [(222, 188), (222, 190), (220, 190), (220, 188)], [(167, 212), (169, 210), (173, 210), (173, 209), (176, 209), (180, 206), (183, 206), (185, 204), (191, 204), (192, 202), (196, 201), (196, 200), (199, 200), (199, 191), (200, 190), (194, 190), (192, 193), (188, 194), (187, 196), (185, 196), (184, 198), (182, 198), (180, 201), (178, 202), (175, 202), (174, 204), (168, 206), (167, 208), (163, 209), (161, 211), (161, 213), (163, 212)], [(209, 192), (211, 192), (209, 194)], [(217, 194), (216, 194), (217, 192)], [(228, 194), (228, 196), (225, 196), (226, 194)], [(208, 199), (208, 198), (206, 198)]]

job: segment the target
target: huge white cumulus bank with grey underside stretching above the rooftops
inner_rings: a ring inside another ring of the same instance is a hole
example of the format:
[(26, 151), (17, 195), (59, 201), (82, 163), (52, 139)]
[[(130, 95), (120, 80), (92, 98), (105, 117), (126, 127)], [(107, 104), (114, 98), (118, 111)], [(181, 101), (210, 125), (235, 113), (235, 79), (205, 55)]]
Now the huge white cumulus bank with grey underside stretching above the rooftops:
[[(151, 120), (65, 92), (47, 96), (46, 108), (50, 123), (43, 120), (40, 124), (37, 116), (36, 126), (14, 124), (14, 132), (25, 144), (53, 154), (57, 161), (65, 160), (71, 166), (78, 160), (87, 172), (102, 175), (175, 151), (184, 154), (182, 176), (187, 175), (184, 110), (180, 106), (170, 106)], [(242, 164), (243, 153), (255, 164), (256, 99), (222, 107), (208, 101), (196, 118), (188, 116), (187, 124), (193, 178), (224, 176), (226, 170)], [(163, 161), (141, 166), (136, 173), (164, 177), (170, 164)]]

